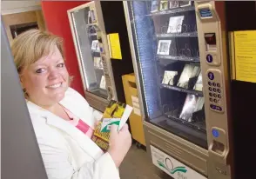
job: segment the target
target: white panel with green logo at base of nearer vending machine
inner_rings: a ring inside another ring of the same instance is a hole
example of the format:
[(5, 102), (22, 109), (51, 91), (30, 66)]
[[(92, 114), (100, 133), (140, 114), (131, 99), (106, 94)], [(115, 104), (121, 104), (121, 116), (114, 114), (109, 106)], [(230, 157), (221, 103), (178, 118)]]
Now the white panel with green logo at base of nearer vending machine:
[(153, 147), (152, 150), (152, 162), (159, 169), (162, 169), (169, 176), (174, 179), (206, 179), (205, 176), (200, 175), (193, 169), (185, 166), (183, 163), (175, 160), (171, 156), (166, 155), (164, 152)]

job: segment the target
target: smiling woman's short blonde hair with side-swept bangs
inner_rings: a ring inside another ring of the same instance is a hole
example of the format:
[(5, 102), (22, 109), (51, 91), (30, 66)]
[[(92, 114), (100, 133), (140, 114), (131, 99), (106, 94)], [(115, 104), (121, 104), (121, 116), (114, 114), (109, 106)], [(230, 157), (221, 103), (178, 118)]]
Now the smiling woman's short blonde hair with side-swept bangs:
[(41, 57), (47, 56), (57, 46), (64, 57), (63, 39), (49, 32), (41, 30), (27, 30), (17, 36), (10, 45), (14, 63), (21, 75), (22, 71), (37, 62)]

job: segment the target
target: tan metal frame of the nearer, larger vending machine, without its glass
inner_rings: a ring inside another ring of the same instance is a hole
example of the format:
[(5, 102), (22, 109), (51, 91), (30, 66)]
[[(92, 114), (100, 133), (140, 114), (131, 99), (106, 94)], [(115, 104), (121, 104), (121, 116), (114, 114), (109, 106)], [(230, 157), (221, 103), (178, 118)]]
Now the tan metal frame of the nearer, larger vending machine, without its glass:
[[(135, 52), (136, 36), (131, 29), (131, 14), (124, 2), (133, 68), (138, 83), (138, 97), (144, 118), (145, 140), (148, 155), (161, 156), (172, 163), (172, 169), (161, 161), (153, 163), (170, 176), (187, 179), (232, 179), (232, 121), (230, 119), (230, 72), (226, 50), (225, 2), (195, 2), (199, 54), (205, 96), (205, 123), (207, 149), (191, 143), (171, 132), (145, 120), (147, 107), (143, 103), (144, 84), (139, 74), (138, 58)], [(210, 102), (212, 83), (217, 83), (221, 95), (218, 103)], [(147, 96), (145, 96), (147, 97)], [(173, 168), (173, 166), (178, 166)], [(169, 169), (169, 170), (168, 170)], [(185, 173), (179, 170), (186, 170)], [(178, 171), (178, 176), (177, 176)], [(172, 175), (176, 173), (175, 175)]]

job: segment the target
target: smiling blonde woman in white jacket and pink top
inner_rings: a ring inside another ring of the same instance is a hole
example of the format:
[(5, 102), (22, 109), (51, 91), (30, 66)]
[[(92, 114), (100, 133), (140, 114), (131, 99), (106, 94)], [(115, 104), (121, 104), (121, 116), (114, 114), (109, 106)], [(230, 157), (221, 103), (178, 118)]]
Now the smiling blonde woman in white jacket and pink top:
[(110, 148), (104, 153), (91, 141), (100, 116), (71, 89), (64, 65), (62, 40), (28, 30), (11, 44), (14, 61), (49, 178), (116, 179), (131, 147), (127, 125), (111, 126)]

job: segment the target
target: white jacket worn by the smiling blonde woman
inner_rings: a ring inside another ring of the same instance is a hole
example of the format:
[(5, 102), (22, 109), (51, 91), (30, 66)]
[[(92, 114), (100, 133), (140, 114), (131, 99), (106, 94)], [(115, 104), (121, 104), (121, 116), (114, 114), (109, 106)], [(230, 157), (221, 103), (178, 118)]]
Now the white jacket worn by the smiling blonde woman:
[[(60, 102), (93, 128), (99, 118), (83, 96), (67, 89)], [(50, 179), (118, 179), (119, 173), (109, 153), (70, 123), (27, 101), (37, 143)]]

